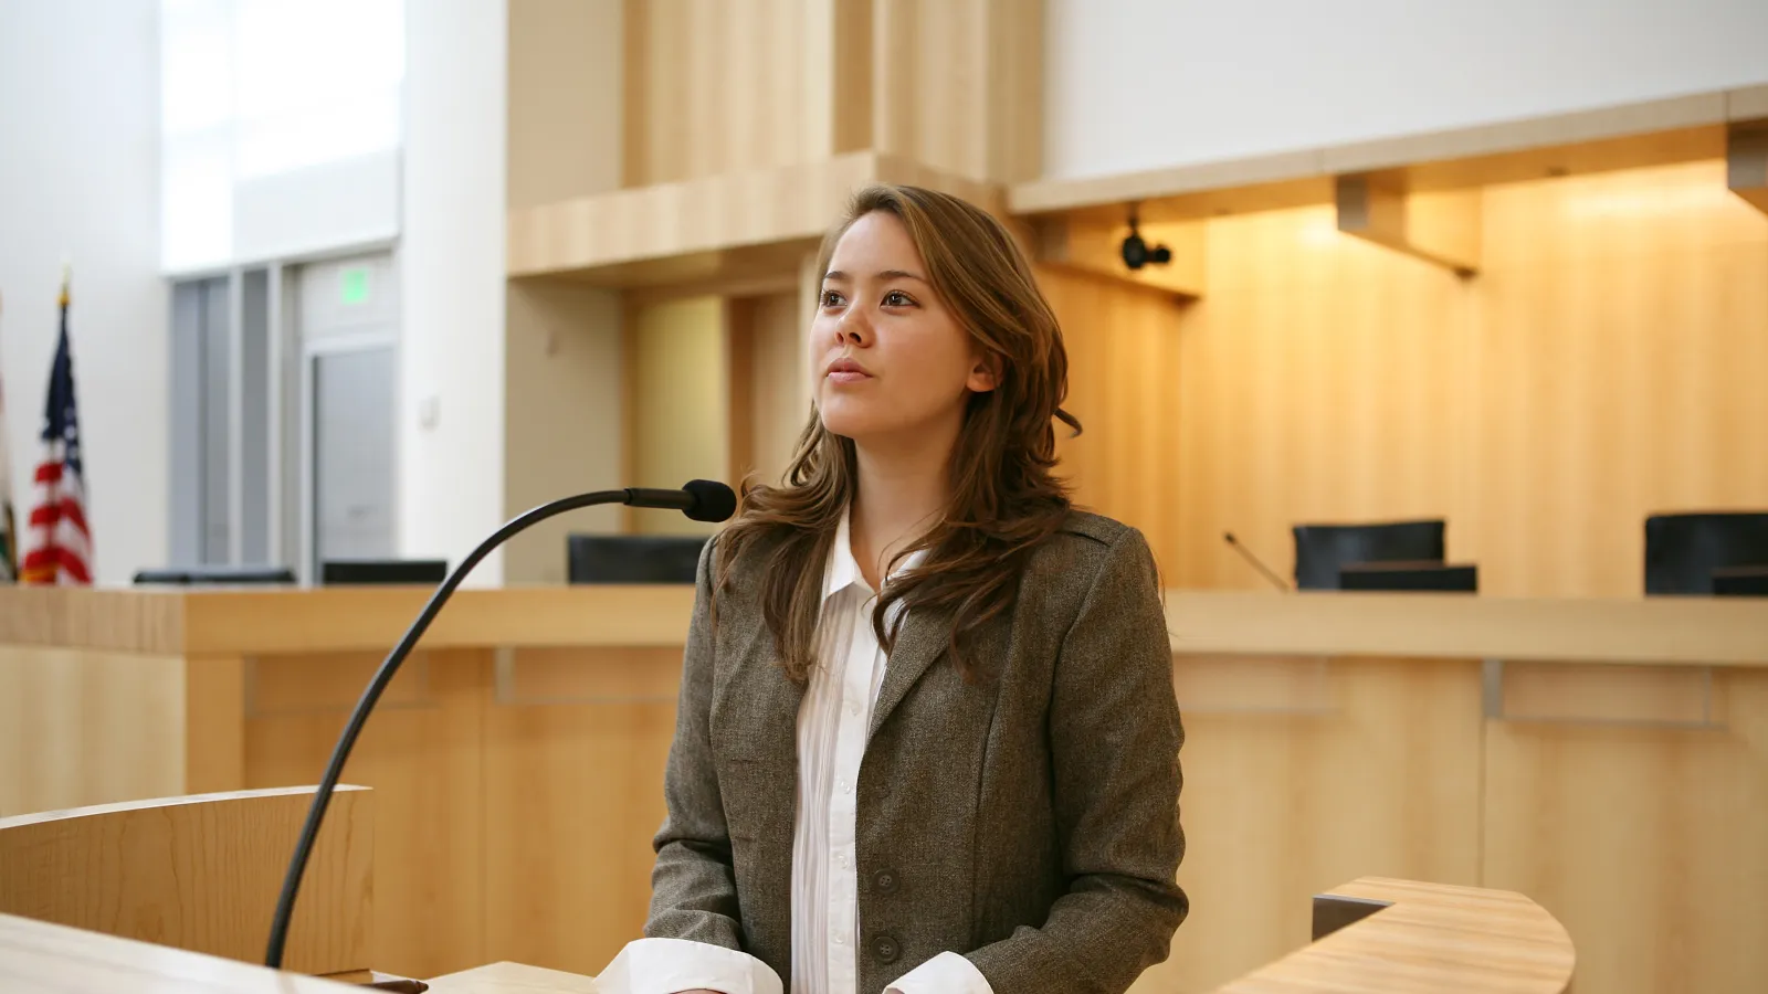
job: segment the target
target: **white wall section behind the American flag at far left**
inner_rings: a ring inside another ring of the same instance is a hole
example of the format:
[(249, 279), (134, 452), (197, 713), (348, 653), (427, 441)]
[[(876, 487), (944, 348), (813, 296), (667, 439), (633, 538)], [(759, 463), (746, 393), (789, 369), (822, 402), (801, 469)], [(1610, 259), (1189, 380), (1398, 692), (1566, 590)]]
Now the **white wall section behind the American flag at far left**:
[(166, 561), (157, 129), (156, 0), (0, 4), (0, 377), (12, 501), (23, 527), (67, 253), (99, 584)]

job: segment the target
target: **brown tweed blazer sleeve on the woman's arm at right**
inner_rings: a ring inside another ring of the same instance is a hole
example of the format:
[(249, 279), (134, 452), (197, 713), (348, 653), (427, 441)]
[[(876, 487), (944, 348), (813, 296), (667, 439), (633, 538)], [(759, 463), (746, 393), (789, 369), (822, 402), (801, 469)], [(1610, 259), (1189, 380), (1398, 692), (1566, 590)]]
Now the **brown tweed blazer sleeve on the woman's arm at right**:
[(1190, 911), (1174, 881), (1185, 730), (1155, 557), (1135, 529), (1110, 545), (1063, 640), (1048, 734), (1068, 893), (1041, 929), (967, 959), (995, 990), (1121, 994), (1167, 959)]

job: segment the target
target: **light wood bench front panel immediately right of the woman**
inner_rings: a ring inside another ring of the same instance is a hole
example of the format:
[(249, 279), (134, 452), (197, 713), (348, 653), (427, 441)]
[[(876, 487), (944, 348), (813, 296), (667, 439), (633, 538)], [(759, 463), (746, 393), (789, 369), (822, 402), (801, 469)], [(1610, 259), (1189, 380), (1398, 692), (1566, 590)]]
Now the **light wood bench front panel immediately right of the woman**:
[(1186, 715), (1192, 914), (1133, 990), (1208, 990), (1305, 944), (1308, 898), (1358, 875), (1480, 883), (1478, 663), (1333, 660), (1330, 700)]

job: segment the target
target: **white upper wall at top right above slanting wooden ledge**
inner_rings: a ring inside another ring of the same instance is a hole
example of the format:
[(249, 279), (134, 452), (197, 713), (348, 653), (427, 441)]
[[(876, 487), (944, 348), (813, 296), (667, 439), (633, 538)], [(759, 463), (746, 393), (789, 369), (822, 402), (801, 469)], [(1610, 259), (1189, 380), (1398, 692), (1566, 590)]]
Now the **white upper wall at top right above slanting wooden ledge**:
[(1764, 0), (1045, 0), (1045, 173), (1768, 81)]

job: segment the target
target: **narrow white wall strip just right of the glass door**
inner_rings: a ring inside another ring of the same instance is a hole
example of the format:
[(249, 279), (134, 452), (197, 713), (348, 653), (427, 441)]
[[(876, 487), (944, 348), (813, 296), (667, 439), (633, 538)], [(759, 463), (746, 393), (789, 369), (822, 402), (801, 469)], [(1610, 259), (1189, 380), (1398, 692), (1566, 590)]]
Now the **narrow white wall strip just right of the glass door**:
[[(504, 520), (506, 27), (504, 0), (405, 11), (400, 554), (449, 564)], [(499, 554), (469, 578), (499, 582)]]

